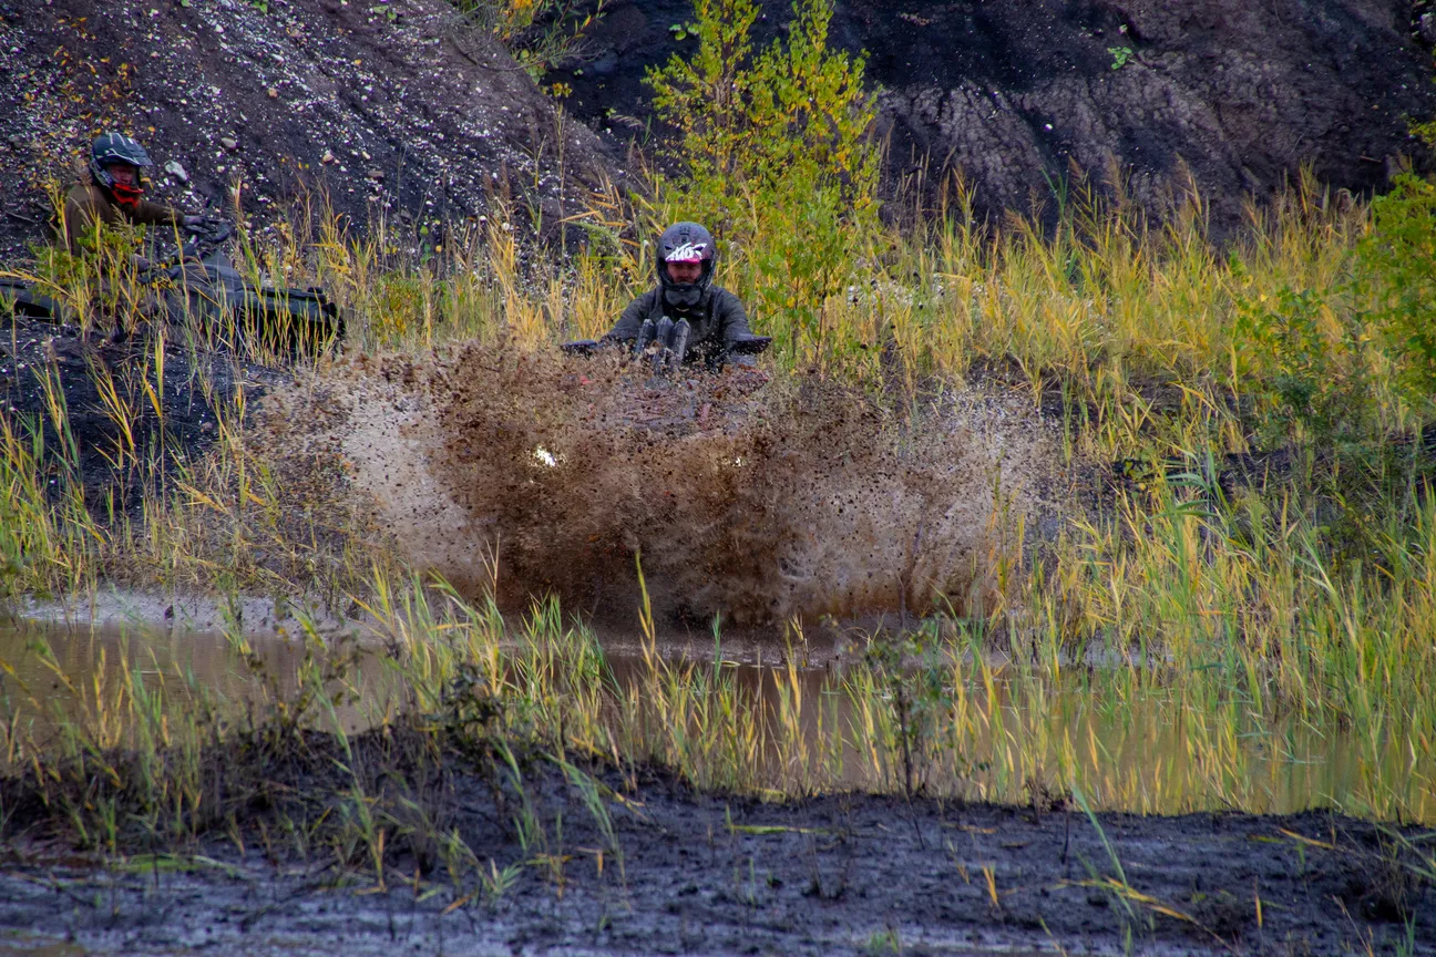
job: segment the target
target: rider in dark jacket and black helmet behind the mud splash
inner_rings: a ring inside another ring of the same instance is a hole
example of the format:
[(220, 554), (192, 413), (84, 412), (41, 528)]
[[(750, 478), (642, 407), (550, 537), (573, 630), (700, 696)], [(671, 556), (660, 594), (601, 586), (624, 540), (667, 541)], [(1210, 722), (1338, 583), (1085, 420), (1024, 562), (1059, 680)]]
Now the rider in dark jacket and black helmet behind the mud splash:
[(629, 303), (617, 324), (603, 337), (605, 341), (642, 341), (652, 329), (665, 329), (665, 320), (668, 329), (686, 321), (684, 362), (704, 360), (719, 366), (735, 343), (752, 339), (742, 303), (712, 284), (718, 250), (708, 230), (696, 222), (668, 227), (658, 240), (656, 258), (658, 288)]

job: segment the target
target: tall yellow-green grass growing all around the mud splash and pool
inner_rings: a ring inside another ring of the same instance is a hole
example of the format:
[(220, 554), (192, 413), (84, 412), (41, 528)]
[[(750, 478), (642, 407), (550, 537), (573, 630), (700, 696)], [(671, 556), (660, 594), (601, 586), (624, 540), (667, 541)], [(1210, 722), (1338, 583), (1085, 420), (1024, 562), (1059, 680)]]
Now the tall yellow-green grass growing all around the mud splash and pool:
[[(961, 199), (959, 191), (954, 209)], [(643, 238), (671, 211), (662, 198), (632, 207), (596, 195), (583, 218), (593, 242), (564, 265), (537, 254), (503, 205), (477, 225), (429, 237), (382, 224), (348, 235), (312, 212), (269, 240), (241, 237), (244, 268), (256, 281), (325, 286), (350, 317), (349, 349), (421, 352), (500, 339), (538, 350), (600, 333), (646, 283)], [(989, 231), (925, 211), (910, 231), (869, 237), (847, 290), (816, 304), (821, 339), (781, 313), (752, 317), (775, 339), (765, 362), (778, 376), (876, 385), (896, 403), (943, 382), (997, 376), (1034, 403), (1055, 397), (1074, 461), (1185, 463), (1183, 475), (1157, 469), (1106, 509), (1074, 508), (1061, 537), (1014, 570), (985, 617), (929, 626), (941, 650), (913, 667), (946, 673), (946, 690), (928, 702), (936, 720), (918, 742), (929, 788), (1011, 801), (1077, 786), (1103, 806), (1264, 811), (1287, 806), (1287, 793), (1321, 799), (1337, 786), (1323, 773), (1350, 762), (1343, 806), (1436, 821), (1436, 514), (1425, 486), (1407, 476), (1389, 489), (1400, 506), (1364, 532), (1364, 552), (1353, 558), (1331, 532), (1331, 509), (1343, 504), (1318, 495), (1300, 469), (1274, 492), (1235, 501), (1216, 475), (1226, 453), (1252, 451), (1252, 393), (1262, 387), (1239, 372), (1251, 347), (1239, 334), (1242, 308), (1290, 288), (1346, 288), (1370, 209), (1304, 184), (1251, 218), (1245, 238), (1219, 250), (1196, 201), (1162, 228), (1094, 199), (1074, 204), (1054, 231), (1020, 220)], [(748, 267), (741, 251), (727, 257), (719, 281), (748, 296)], [(93, 267), (56, 254), (30, 271), (66, 301), (96, 298)], [(138, 321), (139, 300), (106, 307)], [(1323, 308), (1334, 336), (1358, 321), (1364, 303), (1341, 293)], [(1358, 359), (1379, 363), (1374, 349)], [(146, 382), (164, 374), (158, 356)], [(1386, 379), (1373, 389), (1373, 440), (1426, 413)], [(893, 763), (908, 732), (895, 727), (872, 669), (840, 677), (829, 689), (836, 699), (790, 669), (760, 707), (751, 700), (760, 692), (721, 661), (666, 661), (642, 617), (651, 653), (623, 684), (556, 607), (517, 628), (493, 608), (431, 608), (424, 588), (391, 585), (405, 581), (402, 562), (355, 544), (358, 517), (323, 528), (290, 521), (296, 504), (274, 463), (244, 442), (240, 403), (224, 409), (204, 462), (154, 486), (161, 491), (142, 522), (103, 521), (75, 481), (59, 494), (46, 482), (75, 461), (62, 392), (49, 395), (37, 420), (0, 420), (10, 594), (83, 590), (136, 564), (144, 571), (126, 574), (141, 584), (323, 588), (366, 603), (391, 631), (416, 712), (438, 707), (467, 670), (521, 712), (524, 727), (563, 727), (564, 748), (658, 760), (702, 788), (908, 783)], [(113, 413), (125, 418), (118, 392)], [(116, 455), (145, 468), (131, 449)], [(281, 560), (254, 562), (260, 547)], [(105, 707), (138, 720), (139, 692), (125, 694)], [(75, 755), (118, 740), (111, 719), (75, 733), (85, 743)]]

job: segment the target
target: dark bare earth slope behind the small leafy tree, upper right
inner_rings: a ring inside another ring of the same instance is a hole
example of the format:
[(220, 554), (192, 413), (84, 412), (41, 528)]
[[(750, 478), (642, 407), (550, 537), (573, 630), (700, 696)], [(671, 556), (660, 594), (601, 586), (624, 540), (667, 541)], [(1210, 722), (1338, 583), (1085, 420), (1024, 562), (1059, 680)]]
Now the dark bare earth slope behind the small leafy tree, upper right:
[[(760, 6), (765, 40), (791, 4)], [(883, 90), (893, 172), (928, 159), (933, 184), (961, 169), (979, 214), (1051, 199), (1050, 182), (1076, 165), (1119, 174), (1157, 214), (1195, 182), (1221, 232), (1241, 222), (1248, 197), (1269, 198), (1304, 165), (1333, 188), (1380, 189), (1400, 154), (1420, 152), (1409, 121), (1436, 113), (1436, 17), (1423, 39), (1425, 4), (1409, 1), (836, 6), (833, 40), (867, 50)], [(619, 138), (643, 136), (643, 73), (696, 49), (669, 29), (691, 10), (688, 0), (610, 6), (589, 62), (556, 75), (573, 86), (570, 109)], [(1113, 49), (1132, 50), (1120, 69)]]

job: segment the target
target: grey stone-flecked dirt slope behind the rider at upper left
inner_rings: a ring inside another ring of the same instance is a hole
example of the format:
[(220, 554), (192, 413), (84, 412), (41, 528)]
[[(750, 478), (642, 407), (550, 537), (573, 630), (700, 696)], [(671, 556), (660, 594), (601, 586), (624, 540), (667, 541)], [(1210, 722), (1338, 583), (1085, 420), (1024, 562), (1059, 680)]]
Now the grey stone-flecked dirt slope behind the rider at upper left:
[(551, 224), (606, 166), (566, 123), (560, 168), (551, 102), (444, 0), (0, 0), (0, 158), (19, 171), (0, 257), (40, 232), (43, 181), (73, 176), (108, 128), (184, 168), (155, 171), (171, 201), (243, 182), (253, 214), (322, 184), (359, 225), (478, 215), (504, 184)]

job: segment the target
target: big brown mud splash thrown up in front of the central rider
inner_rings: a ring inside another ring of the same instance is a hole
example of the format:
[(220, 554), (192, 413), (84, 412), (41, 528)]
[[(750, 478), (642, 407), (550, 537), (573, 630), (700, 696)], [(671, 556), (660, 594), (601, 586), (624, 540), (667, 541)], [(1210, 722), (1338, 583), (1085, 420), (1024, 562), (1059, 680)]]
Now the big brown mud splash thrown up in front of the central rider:
[[(817, 377), (681, 382), (465, 344), (276, 396), (276, 448), (335, 446), (412, 560), (503, 605), (704, 624), (962, 611), (1044, 512), (1051, 432), (962, 392), (913, 415)], [(319, 415), (319, 407), (325, 415)]]

